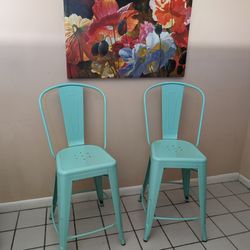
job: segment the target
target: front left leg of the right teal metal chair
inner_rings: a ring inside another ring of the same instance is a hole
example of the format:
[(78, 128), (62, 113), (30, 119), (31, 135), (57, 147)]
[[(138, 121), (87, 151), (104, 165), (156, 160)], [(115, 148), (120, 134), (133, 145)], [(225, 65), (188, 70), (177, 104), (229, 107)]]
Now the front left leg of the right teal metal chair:
[(155, 208), (159, 196), (161, 180), (162, 180), (163, 168), (159, 165), (154, 165), (151, 161), (150, 173), (149, 173), (149, 191), (148, 191), (148, 206), (146, 214), (146, 223), (144, 231), (144, 241), (148, 241), (153, 220)]

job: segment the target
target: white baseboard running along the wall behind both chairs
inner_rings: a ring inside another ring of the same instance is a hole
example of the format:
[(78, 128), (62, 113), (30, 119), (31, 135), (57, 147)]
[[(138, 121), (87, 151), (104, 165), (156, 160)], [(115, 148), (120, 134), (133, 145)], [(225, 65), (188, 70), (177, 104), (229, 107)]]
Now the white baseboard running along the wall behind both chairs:
[[(207, 177), (207, 184), (213, 183), (220, 183), (226, 181), (236, 181), (239, 180), (248, 188), (250, 188), (250, 180), (246, 177), (240, 175), (239, 173), (229, 173), (229, 174), (222, 174), (216, 176), (208, 176)], [(181, 184), (181, 181), (177, 181), (177, 183)], [(198, 185), (197, 178), (191, 179), (192, 186)], [(170, 190), (179, 187), (178, 184), (169, 184), (163, 183), (161, 186), (162, 190)], [(138, 186), (131, 186), (131, 187), (122, 187), (120, 188), (120, 195), (134, 195), (139, 194), (141, 190), (141, 185)], [(110, 190), (106, 190), (105, 193), (110, 196)], [(0, 213), (10, 212), (10, 211), (17, 211), (23, 209), (32, 209), (38, 207), (48, 207), (51, 204), (51, 197), (44, 197), (38, 199), (31, 199), (31, 200), (21, 200), (21, 201), (14, 201), (14, 202), (6, 202), (0, 203)], [(81, 202), (87, 200), (95, 200), (96, 199), (96, 192), (91, 191), (87, 193), (80, 193), (73, 195), (73, 202)]]

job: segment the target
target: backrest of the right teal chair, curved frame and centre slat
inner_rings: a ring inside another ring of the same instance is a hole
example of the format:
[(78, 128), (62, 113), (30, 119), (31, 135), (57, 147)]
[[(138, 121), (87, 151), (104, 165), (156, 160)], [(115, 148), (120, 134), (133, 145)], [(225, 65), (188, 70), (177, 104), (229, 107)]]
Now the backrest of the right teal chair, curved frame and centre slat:
[(205, 95), (203, 91), (195, 85), (182, 82), (162, 82), (147, 88), (144, 92), (144, 115), (146, 123), (147, 142), (150, 144), (150, 133), (148, 125), (148, 111), (147, 111), (147, 96), (148, 93), (157, 87), (162, 88), (162, 138), (163, 139), (177, 139), (179, 131), (179, 123), (182, 109), (182, 100), (184, 89), (191, 88), (201, 95), (201, 113), (196, 138), (196, 146), (200, 142), (200, 133), (203, 122)]

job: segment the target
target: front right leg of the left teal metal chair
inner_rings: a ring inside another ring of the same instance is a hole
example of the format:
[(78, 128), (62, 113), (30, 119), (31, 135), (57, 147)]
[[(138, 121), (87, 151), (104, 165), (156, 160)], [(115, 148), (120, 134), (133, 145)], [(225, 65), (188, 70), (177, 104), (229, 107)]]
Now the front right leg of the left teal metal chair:
[(122, 227), (120, 195), (119, 195), (116, 166), (110, 169), (109, 171), (109, 182), (110, 182), (112, 200), (113, 200), (113, 205), (114, 205), (114, 210), (115, 210), (115, 223), (116, 223), (117, 231), (119, 234), (120, 243), (121, 245), (124, 246), (126, 242), (125, 242), (125, 238), (123, 234), (123, 227)]

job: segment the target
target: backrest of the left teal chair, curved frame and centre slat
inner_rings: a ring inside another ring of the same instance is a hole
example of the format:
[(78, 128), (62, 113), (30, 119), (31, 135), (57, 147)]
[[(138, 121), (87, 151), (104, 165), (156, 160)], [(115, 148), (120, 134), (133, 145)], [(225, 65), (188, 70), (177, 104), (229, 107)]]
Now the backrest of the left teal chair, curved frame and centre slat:
[(107, 114), (107, 101), (105, 94), (97, 87), (81, 84), (81, 83), (63, 83), (45, 89), (39, 96), (39, 109), (42, 117), (45, 134), (47, 136), (50, 153), (55, 157), (55, 151), (49, 134), (48, 124), (46, 121), (43, 101), (48, 92), (58, 89), (60, 97), (61, 110), (63, 113), (64, 127), (68, 146), (82, 145), (84, 141), (84, 92), (85, 89), (93, 89), (103, 97), (103, 126), (104, 126), (104, 143), (103, 147), (106, 148), (106, 114)]

